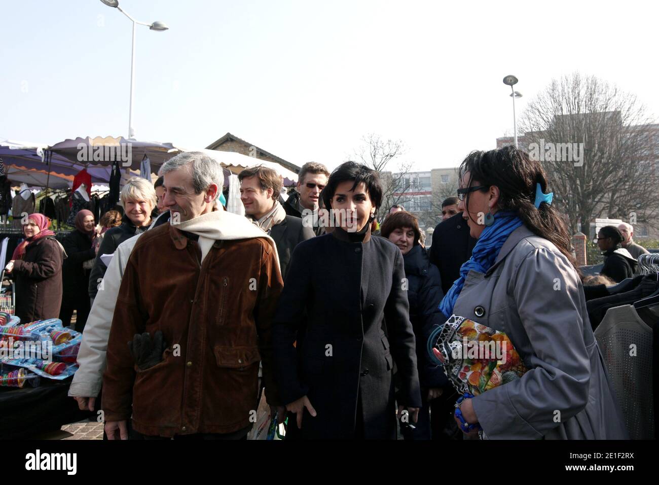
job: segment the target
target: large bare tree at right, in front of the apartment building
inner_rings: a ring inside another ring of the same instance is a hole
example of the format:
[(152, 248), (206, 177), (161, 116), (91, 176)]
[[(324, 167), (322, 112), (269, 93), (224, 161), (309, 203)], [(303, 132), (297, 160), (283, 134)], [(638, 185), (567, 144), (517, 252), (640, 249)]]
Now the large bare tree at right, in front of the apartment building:
[(528, 104), (524, 148), (548, 172), (573, 233), (581, 222), (588, 235), (600, 216), (654, 226), (659, 125), (651, 123), (635, 96), (579, 73), (552, 80)]

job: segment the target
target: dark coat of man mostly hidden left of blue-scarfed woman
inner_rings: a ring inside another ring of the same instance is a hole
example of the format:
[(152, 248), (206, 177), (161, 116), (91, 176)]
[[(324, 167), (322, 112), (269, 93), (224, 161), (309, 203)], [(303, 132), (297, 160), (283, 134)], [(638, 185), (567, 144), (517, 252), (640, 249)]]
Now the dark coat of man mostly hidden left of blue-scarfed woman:
[(437, 224), (432, 233), (430, 263), (440, 269), (444, 294), (459, 278), (460, 267), (471, 257), (475, 245), (476, 240), (469, 236), (469, 226), (462, 212)]

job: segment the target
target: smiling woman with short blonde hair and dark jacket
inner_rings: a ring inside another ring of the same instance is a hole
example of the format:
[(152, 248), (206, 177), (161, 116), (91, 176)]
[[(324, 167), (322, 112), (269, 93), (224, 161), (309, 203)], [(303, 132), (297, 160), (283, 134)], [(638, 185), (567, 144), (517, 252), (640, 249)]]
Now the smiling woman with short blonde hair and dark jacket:
[(114, 253), (119, 244), (149, 228), (158, 197), (152, 183), (143, 178), (133, 177), (121, 189), (120, 203), (124, 209), (121, 226), (105, 232), (89, 278), (89, 296), (92, 300), (96, 298), (98, 284), (107, 269), (101, 261), (101, 255)]

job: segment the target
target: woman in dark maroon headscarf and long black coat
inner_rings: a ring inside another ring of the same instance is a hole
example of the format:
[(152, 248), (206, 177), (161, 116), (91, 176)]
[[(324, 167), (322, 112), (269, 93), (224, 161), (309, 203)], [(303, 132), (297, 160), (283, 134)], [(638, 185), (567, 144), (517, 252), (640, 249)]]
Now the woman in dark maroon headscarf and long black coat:
[(82, 209), (76, 214), (74, 224), (75, 230), (62, 242), (67, 251), (67, 259), (62, 267), (64, 288), (59, 319), (62, 325), (68, 327), (75, 310), (76, 331), (82, 332), (91, 309), (87, 286), (96, 257), (94, 214), (90, 210)]

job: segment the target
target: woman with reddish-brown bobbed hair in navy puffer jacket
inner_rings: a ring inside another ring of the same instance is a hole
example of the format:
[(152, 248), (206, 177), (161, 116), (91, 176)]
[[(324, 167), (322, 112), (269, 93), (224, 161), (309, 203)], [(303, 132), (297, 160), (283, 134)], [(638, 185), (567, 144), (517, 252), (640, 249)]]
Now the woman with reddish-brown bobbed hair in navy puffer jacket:
[[(416, 428), (403, 426), (405, 439), (431, 439), (430, 401), (442, 396), (444, 392), (453, 393), (444, 371), (430, 360), (424, 342), (428, 341), (432, 327), (444, 324), (444, 315), (439, 304), (444, 298), (442, 278), (435, 265), (430, 264), (428, 254), (419, 243), (420, 230), (413, 214), (400, 210), (389, 214), (382, 224), (380, 234), (383, 238), (397, 245), (403, 254), (405, 277), (407, 278), (407, 300), (410, 304), (410, 321), (416, 337), (416, 364), (421, 386), (422, 406), (418, 414)], [(451, 403), (452, 407), (452, 403)], [(443, 424), (450, 418), (449, 412), (434, 416)], [(435, 426), (433, 426), (435, 427)]]

